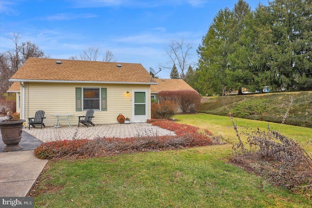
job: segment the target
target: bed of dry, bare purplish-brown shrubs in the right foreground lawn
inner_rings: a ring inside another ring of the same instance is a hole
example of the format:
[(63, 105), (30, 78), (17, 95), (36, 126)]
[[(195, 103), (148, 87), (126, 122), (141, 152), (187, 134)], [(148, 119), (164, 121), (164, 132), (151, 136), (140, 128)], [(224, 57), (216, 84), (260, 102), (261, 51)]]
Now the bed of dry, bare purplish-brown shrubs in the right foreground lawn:
[(312, 197), (312, 158), (298, 142), (276, 131), (256, 130), (246, 133), (249, 151), (242, 151), (232, 159), (265, 176), (273, 184)]

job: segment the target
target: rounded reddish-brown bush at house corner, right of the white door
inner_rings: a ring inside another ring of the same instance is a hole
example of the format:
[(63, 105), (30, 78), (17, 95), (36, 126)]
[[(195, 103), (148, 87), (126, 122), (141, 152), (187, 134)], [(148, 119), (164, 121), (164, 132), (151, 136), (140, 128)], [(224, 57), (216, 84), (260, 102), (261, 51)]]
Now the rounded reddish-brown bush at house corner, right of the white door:
[(176, 114), (177, 105), (174, 101), (164, 100), (161, 103), (152, 103), (152, 118), (169, 119)]

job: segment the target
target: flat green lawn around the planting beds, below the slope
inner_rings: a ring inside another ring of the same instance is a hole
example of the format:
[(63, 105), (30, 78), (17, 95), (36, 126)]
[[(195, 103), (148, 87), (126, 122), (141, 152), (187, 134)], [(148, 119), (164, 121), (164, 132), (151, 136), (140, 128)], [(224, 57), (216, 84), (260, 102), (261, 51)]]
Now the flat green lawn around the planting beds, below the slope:
[[(230, 119), (204, 113), (177, 115), (179, 123), (207, 128), (235, 142)], [(236, 120), (236, 119), (235, 119)], [(261, 126), (237, 119), (239, 129)], [(272, 125), (307, 143), (308, 128)], [(311, 207), (303, 196), (271, 186), (227, 163), (231, 144), (176, 151), (139, 152), (83, 160), (49, 161), (36, 188), (35, 207)], [(310, 151), (311, 152), (311, 151)]]

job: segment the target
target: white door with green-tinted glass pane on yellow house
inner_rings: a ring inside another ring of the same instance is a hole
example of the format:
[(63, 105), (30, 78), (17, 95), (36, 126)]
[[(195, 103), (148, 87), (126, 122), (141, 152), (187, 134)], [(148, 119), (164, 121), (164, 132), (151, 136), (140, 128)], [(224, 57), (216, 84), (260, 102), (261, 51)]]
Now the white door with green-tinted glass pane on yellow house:
[(147, 121), (147, 90), (133, 90), (133, 122)]

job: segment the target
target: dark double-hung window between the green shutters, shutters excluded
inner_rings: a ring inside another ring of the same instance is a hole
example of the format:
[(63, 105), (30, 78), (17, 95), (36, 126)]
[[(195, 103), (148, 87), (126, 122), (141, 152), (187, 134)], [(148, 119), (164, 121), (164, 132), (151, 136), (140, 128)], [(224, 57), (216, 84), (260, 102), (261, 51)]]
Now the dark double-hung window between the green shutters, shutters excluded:
[(99, 111), (99, 88), (83, 88), (83, 110)]

